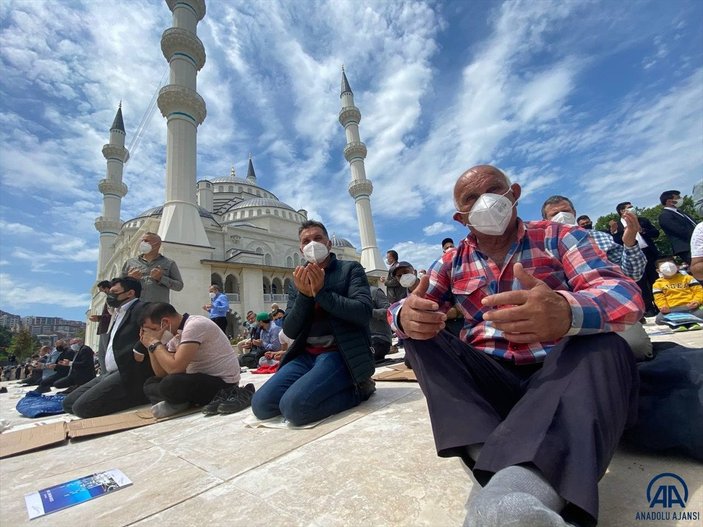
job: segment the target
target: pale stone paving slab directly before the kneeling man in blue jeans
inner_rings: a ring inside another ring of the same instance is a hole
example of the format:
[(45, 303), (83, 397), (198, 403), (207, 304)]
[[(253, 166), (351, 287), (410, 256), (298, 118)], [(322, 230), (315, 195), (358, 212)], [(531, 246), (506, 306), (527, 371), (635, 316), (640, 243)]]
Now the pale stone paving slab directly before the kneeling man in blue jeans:
[(227, 416), (206, 417), (193, 414), (159, 423), (158, 429), (155, 428), (156, 425), (152, 425), (133, 430), (132, 433), (221, 479), (228, 480), (344, 427), (379, 408), (391, 403), (397, 404), (398, 399), (413, 392), (420, 392), (416, 384), (384, 383), (365, 403), (310, 429), (248, 428), (243, 421), (251, 417), (252, 413), (251, 409), (246, 409)]

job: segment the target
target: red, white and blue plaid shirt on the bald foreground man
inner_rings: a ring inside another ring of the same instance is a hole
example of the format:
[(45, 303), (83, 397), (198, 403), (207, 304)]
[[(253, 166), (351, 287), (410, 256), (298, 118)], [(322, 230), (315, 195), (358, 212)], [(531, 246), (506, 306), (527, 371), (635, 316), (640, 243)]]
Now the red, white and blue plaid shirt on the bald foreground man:
[[(483, 320), (492, 308), (483, 306), (482, 298), (522, 289), (513, 276), (517, 262), (569, 302), (572, 324), (566, 336), (621, 331), (642, 316), (639, 288), (608, 262), (588, 233), (551, 221), (518, 219), (517, 241), (502, 268), (480, 252), (476, 237), (469, 234), (456, 251), (445, 253), (432, 265), (425, 297), (437, 302), (442, 312), (455, 304), (461, 309), (466, 321), (461, 339), (474, 348), (516, 364), (541, 362), (556, 341), (511, 343), (492, 322)], [(397, 323), (403, 303), (389, 308), (388, 322), (406, 338)]]

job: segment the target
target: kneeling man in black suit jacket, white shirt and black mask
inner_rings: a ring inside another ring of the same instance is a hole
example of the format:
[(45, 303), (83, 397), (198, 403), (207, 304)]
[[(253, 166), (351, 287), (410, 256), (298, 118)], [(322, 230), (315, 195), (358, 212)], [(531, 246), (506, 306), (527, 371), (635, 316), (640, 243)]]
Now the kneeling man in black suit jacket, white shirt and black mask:
[(144, 381), (154, 375), (139, 342), (139, 320), (147, 305), (139, 300), (142, 284), (130, 277), (115, 278), (107, 305), (116, 309), (105, 352), (106, 371), (66, 396), (63, 409), (78, 417), (114, 414), (148, 402)]

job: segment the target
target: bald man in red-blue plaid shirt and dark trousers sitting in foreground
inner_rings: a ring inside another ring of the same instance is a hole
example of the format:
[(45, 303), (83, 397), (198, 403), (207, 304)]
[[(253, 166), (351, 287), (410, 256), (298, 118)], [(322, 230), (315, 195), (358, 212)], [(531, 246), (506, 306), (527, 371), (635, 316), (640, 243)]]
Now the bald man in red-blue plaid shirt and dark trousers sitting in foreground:
[[(520, 220), (520, 191), (493, 166), (466, 171), (454, 219), (470, 234), (389, 318), (438, 454), (460, 457), (485, 486), (465, 525), (594, 525), (598, 480), (637, 410), (635, 361), (611, 332), (644, 305), (586, 231)], [(442, 331), (454, 303), (461, 339)]]

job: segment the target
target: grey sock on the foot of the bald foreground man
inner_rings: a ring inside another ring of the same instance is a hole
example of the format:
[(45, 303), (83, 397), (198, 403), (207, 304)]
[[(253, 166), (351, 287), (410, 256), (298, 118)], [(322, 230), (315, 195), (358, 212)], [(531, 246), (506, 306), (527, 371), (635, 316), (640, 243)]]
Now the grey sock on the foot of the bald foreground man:
[(560, 527), (564, 500), (537, 470), (511, 466), (472, 493), (464, 527)]

